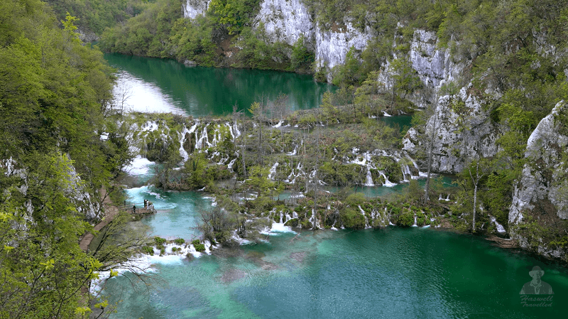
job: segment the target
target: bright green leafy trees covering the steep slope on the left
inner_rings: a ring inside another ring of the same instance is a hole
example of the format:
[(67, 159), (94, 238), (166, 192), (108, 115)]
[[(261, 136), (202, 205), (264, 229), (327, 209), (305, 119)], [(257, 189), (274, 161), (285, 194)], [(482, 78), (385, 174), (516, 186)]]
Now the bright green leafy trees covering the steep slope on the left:
[(97, 202), (131, 159), (109, 125), (112, 70), (72, 14), (6, 0), (0, 21), (0, 318), (77, 318), (81, 288), (108, 266), (79, 247), (92, 230), (80, 193)]

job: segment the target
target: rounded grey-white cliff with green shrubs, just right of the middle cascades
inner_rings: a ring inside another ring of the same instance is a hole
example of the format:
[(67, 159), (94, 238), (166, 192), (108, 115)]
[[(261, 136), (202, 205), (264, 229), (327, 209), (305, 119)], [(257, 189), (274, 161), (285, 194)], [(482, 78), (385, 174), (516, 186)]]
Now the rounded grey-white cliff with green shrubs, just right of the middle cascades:
[[(423, 158), (434, 134), (432, 170), (439, 173), (460, 172), (471, 158), (497, 153), (499, 128), (493, 124), (482, 102), (463, 87), (458, 94), (440, 97), (435, 112), (425, 127), (412, 127), (403, 139), (403, 150)], [(422, 163), (422, 167), (425, 163)]]

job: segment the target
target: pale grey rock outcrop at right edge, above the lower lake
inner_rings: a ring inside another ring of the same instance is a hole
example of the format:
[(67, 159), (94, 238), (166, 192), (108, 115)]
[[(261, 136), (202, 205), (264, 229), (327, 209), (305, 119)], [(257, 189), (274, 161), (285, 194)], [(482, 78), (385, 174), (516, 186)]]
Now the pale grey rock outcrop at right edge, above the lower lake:
[[(523, 175), (515, 185), (513, 203), (509, 210), (509, 227), (521, 246), (530, 248), (527, 234), (519, 225), (536, 222), (552, 233), (567, 229), (556, 229), (559, 221), (568, 219), (568, 168), (566, 147), (568, 131), (565, 119), (568, 105), (559, 102), (552, 112), (540, 121), (527, 142), (525, 158), (528, 160), (523, 168)], [(563, 121), (564, 119), (564, 121)], [(532, 240), (535, 240), (533, 238)], [(565, 249), (549, 247), (546, 240), (536, 238), (539, 242), (537, 251), (545, 256), (561, 258), (566, 255)]]

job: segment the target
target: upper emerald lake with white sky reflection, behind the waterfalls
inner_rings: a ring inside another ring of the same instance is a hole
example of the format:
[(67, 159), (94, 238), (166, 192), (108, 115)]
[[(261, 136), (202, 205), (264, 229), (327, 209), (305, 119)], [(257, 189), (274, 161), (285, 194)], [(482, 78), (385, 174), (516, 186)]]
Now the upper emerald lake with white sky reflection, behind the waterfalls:
[(175, 60), (105, 54), (119, 70), (115, 92), (128, 92), (126, 107), (138, 112), (173, 112), (202, 117), (229, 114), (237, 104), (248, 109), (261, 98), (288, 94), (290, 111), (320, 105), (331, 85), (310, 75), (263, 70), (185, 67)]

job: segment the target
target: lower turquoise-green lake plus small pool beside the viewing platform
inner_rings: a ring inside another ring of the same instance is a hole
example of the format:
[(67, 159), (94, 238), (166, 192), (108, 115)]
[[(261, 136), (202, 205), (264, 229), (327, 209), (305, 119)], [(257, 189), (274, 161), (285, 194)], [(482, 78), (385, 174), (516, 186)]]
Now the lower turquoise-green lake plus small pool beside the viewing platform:
[[(158, 214), (142, 222), (170, 238), (198, 235), (192, 226), (209, 203), (152, 187), (129, 196), (154, 202)], [(566, 268), (480, 237), (431, 227), (290, 230), (199, 258), (155, 256), (151, 287), (132, 274), (107, 281), (105, 295), (121, 301), (112, 318), (564, 318), (568, 310)], [(555, 292), (550, 307), (523, 307), (533, 266)]]

